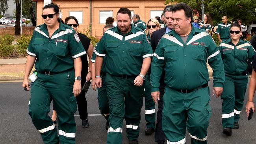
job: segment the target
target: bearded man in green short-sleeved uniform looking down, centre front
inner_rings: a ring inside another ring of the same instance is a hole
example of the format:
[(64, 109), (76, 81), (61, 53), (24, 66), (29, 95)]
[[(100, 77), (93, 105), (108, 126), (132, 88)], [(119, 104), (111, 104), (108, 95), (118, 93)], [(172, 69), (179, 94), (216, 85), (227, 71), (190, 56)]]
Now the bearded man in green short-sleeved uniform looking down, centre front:
[(123, 118), (129, 143), (138, 143), (144, 80), (152, 49), (145, 33), (130, 24), (131, 17), (131, 11), (121, 7), (117, 12), (117, 27), (104, 33), (94, 51), (98, 88), (102, 86), (100, 70), (106, 55), (105, 83), (110, 109), (107, 144), (122, 144)]

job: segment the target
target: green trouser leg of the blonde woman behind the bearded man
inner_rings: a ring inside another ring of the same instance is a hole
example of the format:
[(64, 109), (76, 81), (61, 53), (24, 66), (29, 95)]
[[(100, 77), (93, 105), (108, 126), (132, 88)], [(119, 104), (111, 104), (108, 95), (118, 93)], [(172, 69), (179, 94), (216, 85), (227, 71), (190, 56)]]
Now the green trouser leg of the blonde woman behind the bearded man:
[(152, 127), (155, 128), (156, 123), (156, 109), (155, 103), (151, 97), (151, 84), (150, 79), (148, 78), (148, 74), (145, 76), (145, 119), (147, 122), (147, 128)]

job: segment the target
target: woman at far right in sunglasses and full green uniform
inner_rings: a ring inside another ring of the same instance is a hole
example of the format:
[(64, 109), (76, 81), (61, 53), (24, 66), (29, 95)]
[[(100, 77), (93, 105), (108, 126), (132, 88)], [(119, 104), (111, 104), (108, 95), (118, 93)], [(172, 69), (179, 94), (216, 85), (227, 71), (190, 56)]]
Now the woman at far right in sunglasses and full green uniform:
[(225, 82), (222, 102), (223, 133), (230, 136), (232, 129), (239, 128), (239, 114), (243, 108), (243, 100), (247, 89), (247, 59), (252, 61), (255, 54), (251, 44), (240, 39), (241, 27), (234, 23), (230, 27), (230, 38), (219, 45), (224, 63)]

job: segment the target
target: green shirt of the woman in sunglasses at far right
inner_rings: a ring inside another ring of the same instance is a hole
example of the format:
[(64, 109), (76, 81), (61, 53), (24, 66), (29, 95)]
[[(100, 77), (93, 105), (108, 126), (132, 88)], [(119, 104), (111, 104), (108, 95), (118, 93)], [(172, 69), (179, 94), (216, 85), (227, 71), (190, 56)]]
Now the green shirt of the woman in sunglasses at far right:
[(242, 74), (247, 70), (247, 58), (252, 61), (252, 56), (256, 54), (252, 45), (242, 39), (239, 39), (239, 42), (234, 45), (229, 38), (219, 45), (219, 50), (227, 76)]

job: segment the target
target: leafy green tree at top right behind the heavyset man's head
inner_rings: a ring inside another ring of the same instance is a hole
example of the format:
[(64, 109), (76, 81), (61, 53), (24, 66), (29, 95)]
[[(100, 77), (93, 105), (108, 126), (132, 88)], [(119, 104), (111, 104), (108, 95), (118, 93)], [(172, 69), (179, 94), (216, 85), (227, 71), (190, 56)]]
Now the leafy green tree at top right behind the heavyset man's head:
[[(165, 4), (184, 2), (192, 7), (199, 15), (202, 13), (202, 0), (165, 0)], [(242, 24), (255, 20), (256, 0), (204, 0), (205, 13), (209, 13), (213, 24), (221, 22), (226, 15), (228, 20), (241, 19)]]

